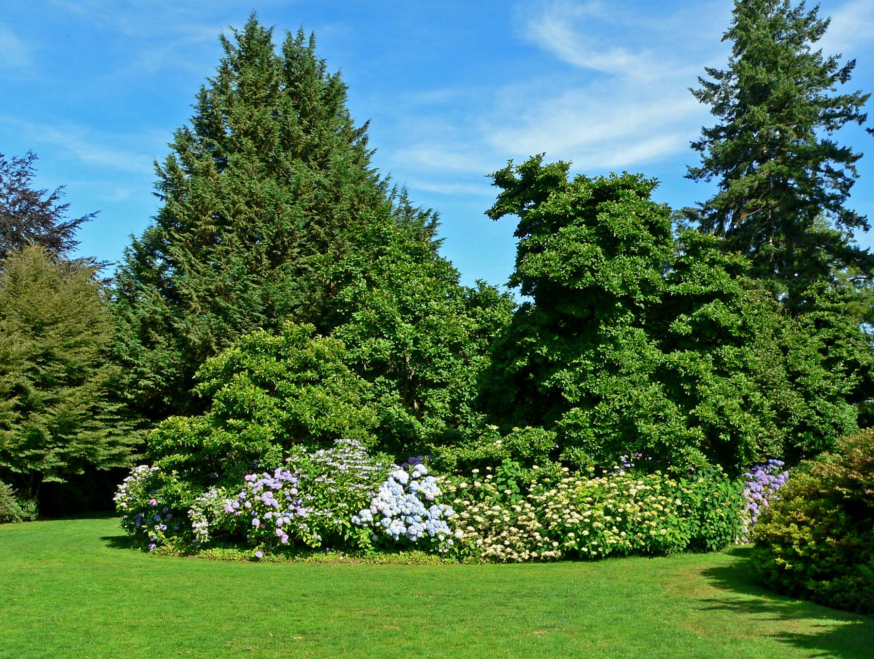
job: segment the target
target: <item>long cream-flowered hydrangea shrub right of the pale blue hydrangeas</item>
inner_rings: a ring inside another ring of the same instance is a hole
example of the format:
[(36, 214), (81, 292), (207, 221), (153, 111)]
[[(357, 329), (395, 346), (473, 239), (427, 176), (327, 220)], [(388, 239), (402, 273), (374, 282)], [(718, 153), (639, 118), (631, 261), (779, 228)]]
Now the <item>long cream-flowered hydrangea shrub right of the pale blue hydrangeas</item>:
[[(487, 472), (491, 469), (487, 468)], [(454, 488), (465, 551), (508, 562), (601, 558), (685, 549), (716, 549), (739, 531), (739, 487), (721, 471), (675, 480), (660, 472), (634, 476), (558, 475), (532, 471), (528, 494), (515, 497), (500, 478), (474, 470)], [(622, 472), (622, 473), (620, 473)]]

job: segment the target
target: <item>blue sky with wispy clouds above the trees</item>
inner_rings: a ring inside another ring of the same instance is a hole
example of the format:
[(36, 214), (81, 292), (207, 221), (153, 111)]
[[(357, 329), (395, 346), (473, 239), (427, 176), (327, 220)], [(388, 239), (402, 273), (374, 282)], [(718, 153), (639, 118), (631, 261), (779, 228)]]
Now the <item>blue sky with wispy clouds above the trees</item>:
[[(856, 58), (848, 90), (874, 91), (874, 0), (823, 0), (822, 47)], [(545, 152), (575, 172), (640, 171), (655, 197), (692, 205), (710, 189), (683, 178), (707, 108), (688, 87), (725, 66), (730, 0), (630, 2), (237, 3), (5, 0), (0, 13), (0, 153), (39, 156), (36, 184), (66, 184), (83, 254), (119, 260), (156, 212), (152, 162), (191, 115), (220, 57), (218, 33), (251, 10), (284, 31), (315, 31), (318, 52), (371, 120), (374, 164), (440, 211), (443, 253), (462, 281), (507, 281), (512, 219), (483, 212), (486, 175)], [(869, 103), (874, 125), (874, 101)], [(874, 220), (874, 138), (850, 207)], [(874, 246), (874, 236), (860, 235)]]

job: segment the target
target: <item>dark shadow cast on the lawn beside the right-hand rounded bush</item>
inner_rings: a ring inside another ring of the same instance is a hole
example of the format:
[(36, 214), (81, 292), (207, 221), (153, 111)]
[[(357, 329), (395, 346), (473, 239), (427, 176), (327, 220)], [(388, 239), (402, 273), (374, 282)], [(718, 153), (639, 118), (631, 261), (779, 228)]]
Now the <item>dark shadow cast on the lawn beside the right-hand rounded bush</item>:
[(762, 621), (773, 625), (776, 622), (786, 623), (781, 625), (783, 628), (804, 629), (768, 635), (775, 641), (808, 650), (811, 657), (871, 659), (874, 656), (874, 616), (851, 614), (773, 593), (755, 582), (751, 547), (736, 547), (728, 553), (739, 559), (732, 565), (702, 572), (711, 586), (725, 591), (725, 597), (700, 600), (705, 605), (701, 610), (730, 611), (738, 614), (739, 624), (754, 625)]

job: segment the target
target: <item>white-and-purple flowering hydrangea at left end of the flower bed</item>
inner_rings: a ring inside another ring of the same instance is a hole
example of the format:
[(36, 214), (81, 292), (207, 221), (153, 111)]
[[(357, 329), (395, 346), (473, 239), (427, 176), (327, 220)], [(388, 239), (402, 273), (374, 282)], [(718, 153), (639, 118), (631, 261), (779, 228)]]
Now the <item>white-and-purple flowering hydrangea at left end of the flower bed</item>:
[(121, 513), (121, 527), (135, 538), (148, 540), (149, 550), (180, 529), (177, 512), (164, 505), (152, 487), (156, 475), (158, 468), (149, 465), (131, 469), (113, 497), (115, 509)]

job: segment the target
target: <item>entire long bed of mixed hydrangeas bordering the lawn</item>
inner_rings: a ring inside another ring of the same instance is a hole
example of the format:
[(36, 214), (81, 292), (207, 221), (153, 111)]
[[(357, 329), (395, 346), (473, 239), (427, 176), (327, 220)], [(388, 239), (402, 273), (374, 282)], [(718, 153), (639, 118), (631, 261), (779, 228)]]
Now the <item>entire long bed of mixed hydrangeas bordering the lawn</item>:
[(250, 558), (415, 548), (506, 562), (720, 549), (738, 538), (745, 511), (741, 483), (718, 468), (596, 477), (505, 460), (462, 477), (429, 473), (418, 458), (389, 466), (356, 440), (291, 453), (271, 471), (199, 491), (165, 468), (137, 467), (115, 496), (121, 524), (141, 545), (176, 552), (230, 542)]

